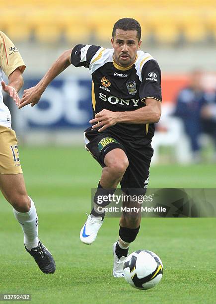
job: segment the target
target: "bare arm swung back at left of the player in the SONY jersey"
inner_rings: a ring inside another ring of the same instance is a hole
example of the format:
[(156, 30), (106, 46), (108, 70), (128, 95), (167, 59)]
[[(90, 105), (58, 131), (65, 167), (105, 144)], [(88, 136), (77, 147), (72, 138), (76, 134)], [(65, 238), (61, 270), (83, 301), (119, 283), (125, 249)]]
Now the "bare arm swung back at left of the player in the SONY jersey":
[(50, 82), (71, 65), (71, 53), (72, 49), (65, 51), (35, 86), (24, 90), (19, 109), (30, 103), (32, 107), (38, 103)]

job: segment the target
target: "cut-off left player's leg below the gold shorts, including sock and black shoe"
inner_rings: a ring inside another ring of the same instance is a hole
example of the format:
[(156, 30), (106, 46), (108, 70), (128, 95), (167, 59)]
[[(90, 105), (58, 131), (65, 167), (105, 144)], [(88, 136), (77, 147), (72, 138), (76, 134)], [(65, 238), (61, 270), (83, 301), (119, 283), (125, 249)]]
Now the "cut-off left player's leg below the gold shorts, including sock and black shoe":
[(23, 230), (26, 251), (34, 257), (41, 271), (54, 273), (55, 261), (38, 239), (38, 216), (33, 200), (27, 195), (23, 175), (0, 174), (0, 190), (12, 205), (14, 216)]

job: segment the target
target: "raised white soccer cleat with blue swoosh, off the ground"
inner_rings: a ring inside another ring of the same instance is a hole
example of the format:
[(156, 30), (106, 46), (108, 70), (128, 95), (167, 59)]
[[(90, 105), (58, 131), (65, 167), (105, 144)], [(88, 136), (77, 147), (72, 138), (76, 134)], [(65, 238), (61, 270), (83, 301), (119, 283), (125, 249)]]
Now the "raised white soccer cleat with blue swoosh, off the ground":
[(95, 241), (97, 232), (103, 224), (102, 217), (92, 217), (88, 215), (87, 221), (80, 231), (80, 240), (86, 245), (90, 245)]

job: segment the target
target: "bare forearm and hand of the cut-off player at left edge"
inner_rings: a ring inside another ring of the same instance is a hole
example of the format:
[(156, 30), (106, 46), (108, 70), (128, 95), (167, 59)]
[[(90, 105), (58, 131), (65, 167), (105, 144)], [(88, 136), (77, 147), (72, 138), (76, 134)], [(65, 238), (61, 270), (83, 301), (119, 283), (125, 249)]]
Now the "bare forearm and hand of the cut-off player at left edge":
[(19, 96), (18, 91), (23, 86), (23, 77), (22, 73), (17, 68), (14, 70), (9, 76), (8, 76), (9, 82), (6, 85), (6, 83), (2, 80), (1, 85), (4, 92), (6, 92), (16, 103), (16, 105), (19, 105)]

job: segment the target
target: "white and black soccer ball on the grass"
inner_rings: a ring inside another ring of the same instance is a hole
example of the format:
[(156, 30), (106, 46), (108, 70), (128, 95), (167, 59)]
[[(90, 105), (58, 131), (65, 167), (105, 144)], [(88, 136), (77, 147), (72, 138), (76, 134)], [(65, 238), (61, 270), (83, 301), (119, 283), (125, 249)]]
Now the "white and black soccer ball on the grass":
[(149, 250), (137, 250), (124, 262), (124, 278), (133, 287), (150, 289), (156, 286), (163, 275), (159, 256)]

